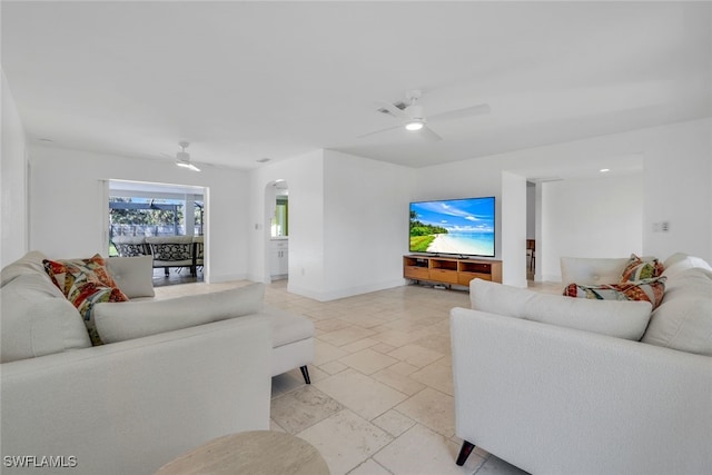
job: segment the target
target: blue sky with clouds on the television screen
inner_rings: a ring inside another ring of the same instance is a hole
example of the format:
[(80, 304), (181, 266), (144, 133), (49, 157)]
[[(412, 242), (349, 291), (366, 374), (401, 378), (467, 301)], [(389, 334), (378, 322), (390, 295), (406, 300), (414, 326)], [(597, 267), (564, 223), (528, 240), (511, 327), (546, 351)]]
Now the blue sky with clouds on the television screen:
[(449, 232), (494, 232), (494, 198), (414, 202), (411, 209), (421, 222)]

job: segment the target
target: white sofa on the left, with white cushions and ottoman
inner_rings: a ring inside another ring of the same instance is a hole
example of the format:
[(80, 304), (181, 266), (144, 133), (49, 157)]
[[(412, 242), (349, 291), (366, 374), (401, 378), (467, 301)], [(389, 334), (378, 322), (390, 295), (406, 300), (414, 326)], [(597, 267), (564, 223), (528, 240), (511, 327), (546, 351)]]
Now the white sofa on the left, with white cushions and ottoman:
[(105, 345), (91, 346), (42, 259), (30, 253), (1, 275), (3, 474), (154, 473), (217, 436), (267, 429), (271, 376), (313, 359), (308, 319), (261, 301), (236, 313), (260, 285), (154, 300), (150, 256), (108, 259), (134, 298), (95, 305)]

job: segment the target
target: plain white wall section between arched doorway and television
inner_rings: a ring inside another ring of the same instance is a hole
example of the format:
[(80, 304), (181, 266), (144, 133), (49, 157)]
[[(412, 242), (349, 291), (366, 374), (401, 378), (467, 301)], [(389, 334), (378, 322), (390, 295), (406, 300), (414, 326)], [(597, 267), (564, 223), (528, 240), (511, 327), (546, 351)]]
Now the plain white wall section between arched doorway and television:
[(403, 285), (411, 168), (325, 151), (325, 286), (320, 299)]

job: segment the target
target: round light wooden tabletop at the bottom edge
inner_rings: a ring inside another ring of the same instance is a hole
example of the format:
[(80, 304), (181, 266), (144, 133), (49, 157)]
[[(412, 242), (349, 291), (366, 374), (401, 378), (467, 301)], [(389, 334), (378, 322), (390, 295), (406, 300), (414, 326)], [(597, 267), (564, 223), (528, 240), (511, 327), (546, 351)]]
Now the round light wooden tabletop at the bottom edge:
[(314, 446), (290, 434), (250, 431), (212, 439), (164, 465), (156, 475), (329, 475)]

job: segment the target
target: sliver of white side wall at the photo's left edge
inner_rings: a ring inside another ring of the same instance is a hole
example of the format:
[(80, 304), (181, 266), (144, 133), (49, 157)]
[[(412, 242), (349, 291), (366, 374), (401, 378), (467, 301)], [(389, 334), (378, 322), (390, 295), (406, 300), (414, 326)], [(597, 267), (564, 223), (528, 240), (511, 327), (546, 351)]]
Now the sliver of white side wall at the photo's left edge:
[(28, 250), (26, 137), (8, 81), (2, 75), (2, 156), (0, 168), (0, 209), (2, 243), (0, 267), (22, 257)]

